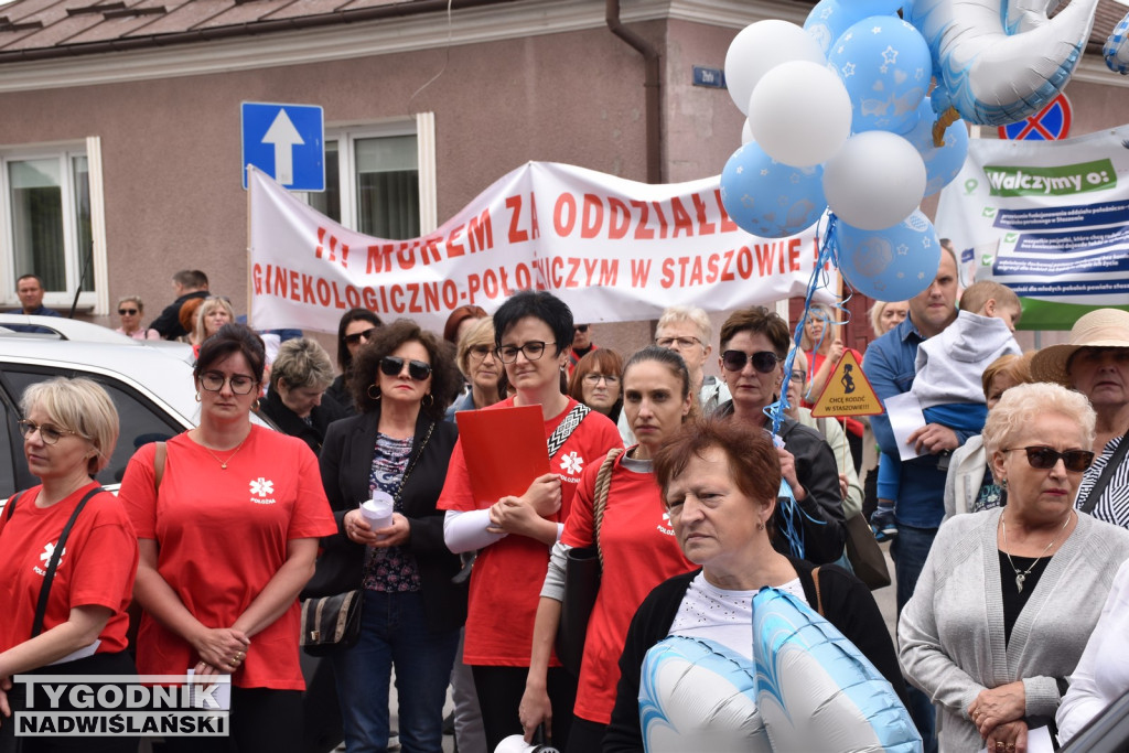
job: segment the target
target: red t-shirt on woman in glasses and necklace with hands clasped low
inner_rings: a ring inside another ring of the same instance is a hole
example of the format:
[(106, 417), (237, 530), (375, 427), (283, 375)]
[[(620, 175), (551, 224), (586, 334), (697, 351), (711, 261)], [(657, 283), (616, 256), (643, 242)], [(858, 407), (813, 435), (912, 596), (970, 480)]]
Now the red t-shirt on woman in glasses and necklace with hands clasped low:
[[(159, 548), (157, 571), (184, 606), (209, 628), (230, 628), (287, 560), (294, 539), (336, 533), (317, 458), (306, 443), (252, 427), (227, 469), (187, 435), (168, 440), (159, 496), (156, 445), (133, 455), (119, 492), (138, 539)], [(231, 676), (239, 688), (303, 690), (298, 666), (300, 607), (251, 637)], [(184, 674), (199, 656), (149, 614), (141, 618), (138, 669)]]

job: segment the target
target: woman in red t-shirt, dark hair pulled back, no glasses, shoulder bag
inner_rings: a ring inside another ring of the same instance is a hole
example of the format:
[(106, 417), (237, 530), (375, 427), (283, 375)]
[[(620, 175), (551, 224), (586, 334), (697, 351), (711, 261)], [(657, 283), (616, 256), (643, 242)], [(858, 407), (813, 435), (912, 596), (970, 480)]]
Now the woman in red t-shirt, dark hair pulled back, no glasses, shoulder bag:
[[(615, 686), (620, 678), (616, 663), (639, 604), (658, 584), (693, 569), (674, 539), (662, 491), (650, 467), (651, 454), (690, 415), (692, 400), (690, 373), (677, 352), (650, 345), (628, 360), (623, 369), (623, 410), (639, 444), (615, 459), (599, 523), (604, 575), (584, 643), (567, 748), (570, 753), (602, 750), (604, 730), (615, 706)], [(520, 706), (526, 739), (532, 738), (537, 725), (550, 726), (554, 719), (545, 693), (545, 671), (560, 624), (564, 555), (575, 546), (592, 546), (596, 539), (593, 502), (599, 466), (599, 463), (589, 464), (580, 478), (572, 514), (564, 524), (560, 542), (553, 548), (549, 575), (541, 590), (533, 629), (533, 656)], [(567, 712), (567, 709), (557, 710)]]

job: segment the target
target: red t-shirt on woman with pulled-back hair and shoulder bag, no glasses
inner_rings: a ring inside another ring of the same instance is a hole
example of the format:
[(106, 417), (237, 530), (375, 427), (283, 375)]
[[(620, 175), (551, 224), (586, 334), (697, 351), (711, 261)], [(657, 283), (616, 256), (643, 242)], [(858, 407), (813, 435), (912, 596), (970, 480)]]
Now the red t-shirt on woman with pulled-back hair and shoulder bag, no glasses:
[[(622, 455), (615, 458), (599, 524), (604, 575), (588, 619), (576, 693), (576, 716), (598, 724), (612, 720), (620, 654), (636, 610), (655, 586), (697, 567), (682, 554), (674, 537), (654, 474), (628, 470), (622, 461)], [(592, 546), (598, 473), (599, 464), (593, 463), (580, 476), (561, 535), (561, 542), (569, 546)]]

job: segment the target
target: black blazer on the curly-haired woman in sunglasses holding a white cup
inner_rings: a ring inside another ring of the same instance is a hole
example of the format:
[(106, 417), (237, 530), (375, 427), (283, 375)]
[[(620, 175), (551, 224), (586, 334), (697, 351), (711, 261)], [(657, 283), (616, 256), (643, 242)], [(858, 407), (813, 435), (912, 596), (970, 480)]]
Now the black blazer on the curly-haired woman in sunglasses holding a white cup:
[[(431, 423), (432, 421), (422, 414), (415, 422), (412, 457), (419, 455), (419, 459), (402, 489), (403, 515), (411, 524), (411, 535), (402, 546), (415, 557), (420, 569), (423, 611), (429, 628), (438, 632), (454, 630), (466, 621), (466, 587), (456, 586), (450, 581), (458, 573), (462, 563), (458, 555), (452, 554), (444, 543), (445, 513), (435, 507), (447, 478), (447, 464), (450, 462), (450, 453), (458, 438), (458, 427), (448, 421), (436, 421), (431, 437), (421, 452), (421, 444)], [(345, 536), (344, 516), (371, 497), (368, 480), (379, 426), (380, 410), (377, 406), (369, 413), (334, 421), (325, 434), (325, 443), (322, 445), (318, 459), (322, 485), (330, 499), (330, 507), (333, 508), (333, 517), (338, 522), (338, 535), (326, 536), (322, 540), (322, 545), (326, 550), (325, 554), (330, 554), (331, 549), (339, 554), (345, 553), (349, 558), (348, 573), (352, 579), (350, 585), (329, 593), (360, 588), (365, 546), (355, 544)], [(411, 465), (410, 459), (409, 465)], [(318, 580), (331, 575), (327, 572), (323, 576), (320, 567), (314, 580), (306, 586), (306, 595), (318, 595), (325, 590), (327, 585)]]

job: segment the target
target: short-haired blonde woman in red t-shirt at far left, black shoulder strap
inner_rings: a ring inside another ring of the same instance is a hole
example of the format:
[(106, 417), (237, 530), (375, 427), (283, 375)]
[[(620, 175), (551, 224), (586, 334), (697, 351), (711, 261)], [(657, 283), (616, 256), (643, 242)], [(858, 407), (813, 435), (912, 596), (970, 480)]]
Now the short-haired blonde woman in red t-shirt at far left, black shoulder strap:
[[(93, 476), (117, 441), (114, 403), (90, 379), (50, 379), (24, 392), (24, 456), (41, 484), (8, 500), (0, 514), (0, 748), (11, 711), (26, 708), (12, 675), (129, 675), (125, 613), (138, 568), (129, 517)], [(81, 507), (79, 507), (81, 505)], [(36, 624), (46, 570), (68, 523), (73, 526)], [(50, 666), (49, 666), (50, 665)], [(45, 702), (40, 693), (40, 706)], [(68, 693), (60, 697), (64, 702)], [(70, 707), (73, 709), (73, 707)], [(43, 710), (67, 710), (58, 706)], [(11, 742), (9, 739), (9, 742)], [(130, 751), (124, 737), (25, 738), (35, 751)]]

